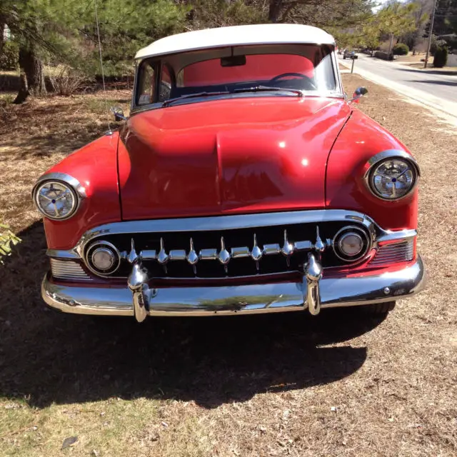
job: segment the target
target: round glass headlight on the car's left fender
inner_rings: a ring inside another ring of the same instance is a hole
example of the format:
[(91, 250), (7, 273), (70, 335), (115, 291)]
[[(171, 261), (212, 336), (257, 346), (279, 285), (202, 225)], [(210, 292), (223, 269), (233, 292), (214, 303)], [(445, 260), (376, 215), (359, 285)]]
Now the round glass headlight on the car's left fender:
[(34, 200), (36, 207), (49, 219), (68, 219), (79, 204), (74, 189), (64, 181), (44, 181), (37, 186)]

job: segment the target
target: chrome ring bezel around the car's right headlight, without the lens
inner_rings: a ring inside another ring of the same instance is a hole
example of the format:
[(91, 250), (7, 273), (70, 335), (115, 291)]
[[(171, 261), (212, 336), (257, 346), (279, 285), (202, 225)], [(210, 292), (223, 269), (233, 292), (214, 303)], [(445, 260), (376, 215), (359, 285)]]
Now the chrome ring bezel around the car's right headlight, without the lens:
[[(411, 170), (412, 173), (412, 184), (411, 187), (406, 191), (406, 194), (401, 196), (395, 197), (386, 197), (385, 195), (381, 194), (374, 185), (373, 179), (375, 176), (375, 172), (379, 167), (385, 163), (386, 161), (391, 160), (398, 160), (407, 164), (408, 169)], [(408, 154), (406, 151), (401, 151), (397, 149), (388, 149), (387, 151), (382, 151), (379, 154), (371, 157), (371, 159), (366, 163), (365, 170), (364, 170), (364, 181), (368, 190), (376, 196), (376, 198), (384, 200), (384, 201), (398, 201), (401, 199), (406, 198), (407, 196), (411, 195), (414, 189), (416, 189), (419, 176), (421, 176), (421, 170), (416, 162), (416, 160)]]

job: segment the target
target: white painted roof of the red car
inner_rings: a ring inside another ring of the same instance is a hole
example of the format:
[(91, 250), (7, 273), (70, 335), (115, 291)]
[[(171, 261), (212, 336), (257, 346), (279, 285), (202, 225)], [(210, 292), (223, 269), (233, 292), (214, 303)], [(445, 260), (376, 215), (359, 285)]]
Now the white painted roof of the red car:
[(140, 49), (135, 59), (223, 46), (288, 43), (334, 45), (335, 39), (322, 29), (301, 24), (219, 27), (166, 36)]

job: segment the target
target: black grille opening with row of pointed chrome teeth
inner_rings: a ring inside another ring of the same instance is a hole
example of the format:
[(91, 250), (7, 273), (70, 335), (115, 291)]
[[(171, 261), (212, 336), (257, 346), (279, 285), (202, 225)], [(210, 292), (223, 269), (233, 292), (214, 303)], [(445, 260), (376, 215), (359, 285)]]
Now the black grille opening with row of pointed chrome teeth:
[[(210, 231), (119, 233), (106, 235), (104, 240), (121, 252), (117, 277), (129, 276), (133, 242), (151, 278), (234, 278), (303, 271), (309, 251), (320, 253), (324, 267), (347, 264), (333, 251), (333, 237), (343, 226), (347, 226), (345, 221), (325, 221)], [(360, 227), (366, 232), (362, 224)], [(364, 242), (368, 245), (369, 240), (367, 233)]]

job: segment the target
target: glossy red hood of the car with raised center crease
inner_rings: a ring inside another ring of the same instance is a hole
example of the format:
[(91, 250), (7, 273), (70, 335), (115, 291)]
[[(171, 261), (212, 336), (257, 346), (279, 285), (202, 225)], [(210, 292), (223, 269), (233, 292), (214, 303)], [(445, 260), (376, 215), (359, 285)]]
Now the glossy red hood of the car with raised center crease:
[(323, 208), (350, 113), (340, 99), (261, 97), (136, 114), (119, 141), (123, 219)]

